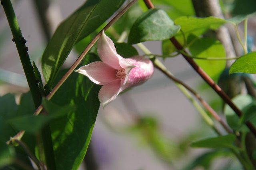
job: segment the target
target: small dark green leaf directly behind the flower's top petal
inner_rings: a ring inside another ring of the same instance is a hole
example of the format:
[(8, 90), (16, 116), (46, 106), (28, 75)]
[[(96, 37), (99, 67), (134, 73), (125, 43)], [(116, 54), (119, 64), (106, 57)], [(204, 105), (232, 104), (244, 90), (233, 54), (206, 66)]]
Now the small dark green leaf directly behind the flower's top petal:
[(116, 47), (116, 52), (124, 57), (124, 58), (129, 58), (132, 56), (137, 56), (139, 55), (136, 48), (134, 48), (132, 45), (127, 44), (127, 43), (115, 43)]

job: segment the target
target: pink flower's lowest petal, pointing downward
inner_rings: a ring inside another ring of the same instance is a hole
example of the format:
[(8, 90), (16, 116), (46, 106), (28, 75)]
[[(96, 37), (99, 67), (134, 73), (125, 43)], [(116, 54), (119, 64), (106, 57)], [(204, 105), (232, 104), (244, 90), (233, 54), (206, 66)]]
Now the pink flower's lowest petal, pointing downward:
[(103, 108), (112, 102), (121, 91), (121, 80), (115, 80), (102, 86), (98, 98)]

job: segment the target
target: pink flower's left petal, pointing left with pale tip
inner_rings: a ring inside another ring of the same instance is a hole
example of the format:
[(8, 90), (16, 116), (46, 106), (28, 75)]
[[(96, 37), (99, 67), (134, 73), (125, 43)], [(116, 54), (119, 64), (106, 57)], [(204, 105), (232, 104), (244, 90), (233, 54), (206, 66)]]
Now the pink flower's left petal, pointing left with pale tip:
[(92, 82), (101, 85), (116, 80), (116, 70), (100, 61), (82, 66), (75, 72), (79, 72), (80, 74), (87, 76)]

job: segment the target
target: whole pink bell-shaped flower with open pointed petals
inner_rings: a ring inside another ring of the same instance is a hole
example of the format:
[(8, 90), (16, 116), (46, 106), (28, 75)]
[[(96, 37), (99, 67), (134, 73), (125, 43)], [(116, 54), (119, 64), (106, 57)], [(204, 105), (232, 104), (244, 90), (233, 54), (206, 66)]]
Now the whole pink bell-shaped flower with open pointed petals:
[(137, 86), (148, 80), (154, 67), (143, 56), (122, 58), (117, 54), (112, 40), (102, 32), (97, 51), (102, 62), (92, 62), (76, 72), (87, 76), (92, 82), (103, 85), (98, 98), (103, 108), (126, 88)]

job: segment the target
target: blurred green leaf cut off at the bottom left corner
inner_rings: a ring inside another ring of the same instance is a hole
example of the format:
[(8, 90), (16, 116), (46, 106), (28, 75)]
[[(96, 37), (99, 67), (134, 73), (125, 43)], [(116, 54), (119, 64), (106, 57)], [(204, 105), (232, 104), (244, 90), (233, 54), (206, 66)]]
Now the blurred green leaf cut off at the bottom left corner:
[(4, 141), (0, 141), (0, 151), (0, 168), (3, 168), (13, 162), (15, 151), (13, 147), (8, 146)]

